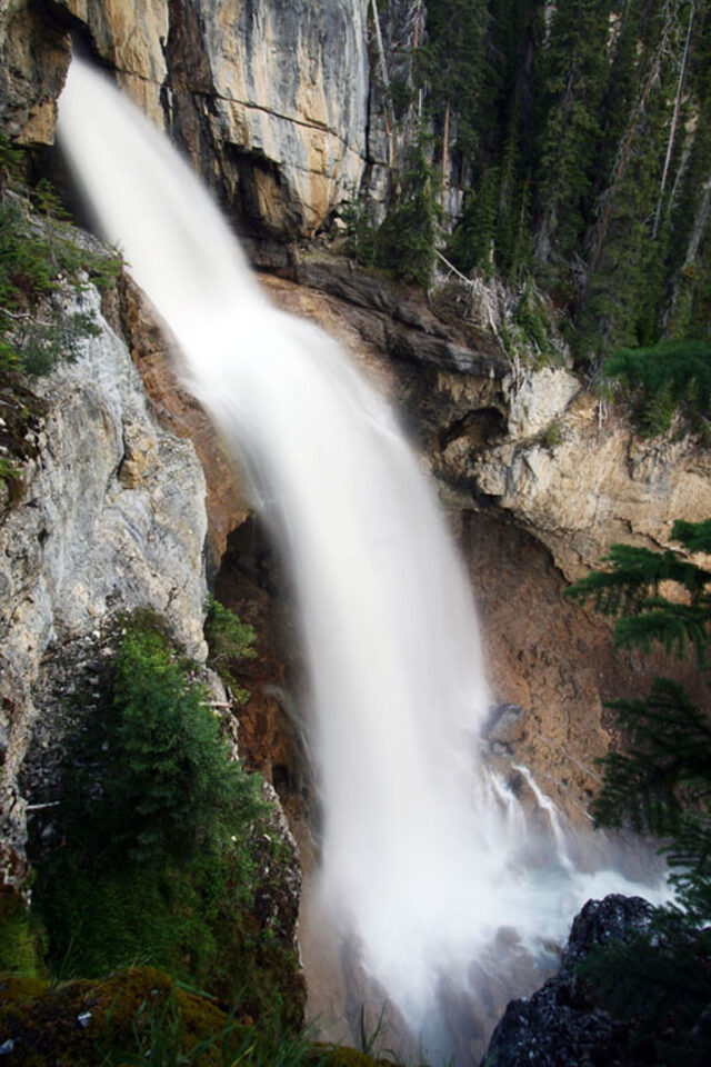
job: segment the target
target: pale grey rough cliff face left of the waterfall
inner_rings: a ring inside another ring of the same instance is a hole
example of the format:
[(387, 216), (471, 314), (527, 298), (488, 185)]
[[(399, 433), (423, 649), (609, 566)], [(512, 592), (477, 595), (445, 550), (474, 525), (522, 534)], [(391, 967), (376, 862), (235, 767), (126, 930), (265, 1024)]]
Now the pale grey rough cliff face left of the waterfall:
[[(151, 415), (124, 343), (88, 290), (100, 335), (38, 387), (47, 415), (22, 498), (0, 523), (0, 837), (22, 874), (26, 800), (18, 772), (50, 647), (90, 638), (117, 612), (164, 615), (204, 658), (204, 478), (192, 446)], [(68, 310), (71, 310), (68, 308)]]

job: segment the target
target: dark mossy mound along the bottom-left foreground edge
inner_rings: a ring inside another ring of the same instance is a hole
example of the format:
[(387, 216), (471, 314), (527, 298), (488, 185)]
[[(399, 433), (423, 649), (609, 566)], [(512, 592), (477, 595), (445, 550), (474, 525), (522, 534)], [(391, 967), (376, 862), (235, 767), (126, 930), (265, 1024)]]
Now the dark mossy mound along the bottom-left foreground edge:
[(352, 1049), (227, 1014), (151, 967), (59, 986), (0, 975), (3, 1067), (374, 1067)]

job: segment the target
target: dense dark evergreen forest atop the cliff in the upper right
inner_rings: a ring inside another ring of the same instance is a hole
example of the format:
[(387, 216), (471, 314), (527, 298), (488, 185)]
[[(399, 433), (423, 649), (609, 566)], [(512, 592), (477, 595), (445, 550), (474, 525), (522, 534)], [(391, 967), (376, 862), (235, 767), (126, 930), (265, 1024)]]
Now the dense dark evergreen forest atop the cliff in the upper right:
[[(710, 41), (709, 0), (427, 4), (410, 88), (440, 201), (465, 193), (444, 252), (465, 275), (530, 279), (591, 373), (620, 348), (708, 343)], [(405, 143), (415, 128), (405, 113)], [(398, 260), (393, 243), (387, 266), (411, 278)]]

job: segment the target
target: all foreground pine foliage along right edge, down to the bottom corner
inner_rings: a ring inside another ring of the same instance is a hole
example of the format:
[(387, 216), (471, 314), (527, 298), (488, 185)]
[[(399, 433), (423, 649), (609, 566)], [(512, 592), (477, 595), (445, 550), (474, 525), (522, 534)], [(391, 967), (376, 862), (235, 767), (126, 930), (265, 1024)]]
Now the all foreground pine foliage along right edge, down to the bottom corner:
[[(618, 648), (660, 645), (680, 659), (693, 656), (708, 671), (711, 648), (711, 519), (675, 522), (679, 552), (614, 545), (609, 567), (591, 571), (569, 596), (619, 616)], [(618, 700), (627, 739), (604, 759), (593, 804), (598, 826), (661, 838), (675, 890), (658, 910), (649, 936), (595, 954), (587, 977), (614, 1014), (633, 1021), (632, 1063), (708, 1063), (711, 1053), (711, 721), (678, 682), (658, 678), (645, 697)], [(692, 933), (689, 925), (699, 928)]]

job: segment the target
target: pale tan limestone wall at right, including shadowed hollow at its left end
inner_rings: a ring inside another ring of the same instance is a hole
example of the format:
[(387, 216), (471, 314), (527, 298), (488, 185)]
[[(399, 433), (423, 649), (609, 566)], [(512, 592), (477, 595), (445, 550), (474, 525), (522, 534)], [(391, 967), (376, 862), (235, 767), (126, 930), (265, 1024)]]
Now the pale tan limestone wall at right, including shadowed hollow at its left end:
[(683, 432), (640, 438), (621, 408), (601, 407), (565, 370), (544, 368), (515, 385), (504, 379), (489, 401), (501, 421), (483, 441), (471, 431), (481, 383), (440, 375), (437, 388), (442, 411), (450, 400), (450, 430), (435, 469), (452, 501), (468, 507), (478, 498), (502, 509), (570, 581), (614, 542), (667, 548), (675, 519), (711, 515), (708, 448)]

